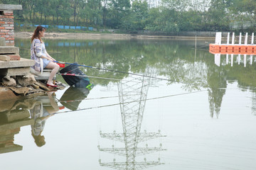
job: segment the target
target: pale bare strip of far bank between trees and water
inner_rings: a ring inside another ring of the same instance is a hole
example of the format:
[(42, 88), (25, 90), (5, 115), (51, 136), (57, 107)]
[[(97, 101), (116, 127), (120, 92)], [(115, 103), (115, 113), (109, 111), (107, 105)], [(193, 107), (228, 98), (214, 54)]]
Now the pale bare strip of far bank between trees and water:
[[(15, 38), (31, 38), (33, 33), (17, 32)], [(174, 39), (174, 40), (209, 40), (215, 37), (206, 36), (170, 36), (170, 35), (134, 35), (117, 33), (46, 33), (46, 39), (77, 40), (130, 40), (130, 39)]]

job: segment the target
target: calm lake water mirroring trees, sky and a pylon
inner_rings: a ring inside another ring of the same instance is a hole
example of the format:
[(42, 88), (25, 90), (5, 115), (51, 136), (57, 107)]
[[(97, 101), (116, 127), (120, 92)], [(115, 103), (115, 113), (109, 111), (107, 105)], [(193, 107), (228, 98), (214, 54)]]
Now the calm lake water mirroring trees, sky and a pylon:
[[(80, 67), (90, 91), (0, 101), (1, 170), (256, 168), (255, 56), (215, 57), (206, 40), (45, 42), (58, 61), (119, 72)], [(29, 40), (16, 46), (29, 58)]]

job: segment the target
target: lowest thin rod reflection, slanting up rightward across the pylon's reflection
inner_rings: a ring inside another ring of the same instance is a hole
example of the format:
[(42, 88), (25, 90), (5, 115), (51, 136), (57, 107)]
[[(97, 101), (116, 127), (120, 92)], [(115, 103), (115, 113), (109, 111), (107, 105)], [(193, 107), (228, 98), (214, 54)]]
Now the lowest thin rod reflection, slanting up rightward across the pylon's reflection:
[[(207, 90), (203, 90), (203, 91), (207, 91)], [(151, 101), (151, 100), (156, 100), (156, 99), (159, 99), (159, 98), (168, 98), (168, 97), (181, 96), (181, 95), (186, 95), (186, 94), (196, 94), (196, 93), (203, 92), (203, 91), (193, 91), (193, 92), (188, 92), (188, 93), (183, 93), (183, 94), (173, 94), (173, 95), (169, 95), (169, 96), (161, 96), (161, 97), (156, 97), (156, 98), (142, 99), (142, 100), (139, 100), (139, 101), (129, 101), (129, 102), (124, 102), (124, 103), (114, 103), (114, 104), (104, 105), (104, 106), (81, 108), (81, 109), (78, 109), (76, 111), (85, 111), (85, 110), (90, 110), (90, 109), (93, 109), (93, 108), (105, 108), (105, 107), (110, 107), (110, 106), (117, 106), (117, 105), (120, 105), (120, 104), (127, 104), (127, 103), (141, 102), (141, 101)], [(69, 113), (69, 112), (73, 112), (73, 111), (63, 111), (63, 112), (58, 112), (58, 113), (53, 113), (53, 114), (55, 115), (55, 114), (59, 114), (59, 113)]]

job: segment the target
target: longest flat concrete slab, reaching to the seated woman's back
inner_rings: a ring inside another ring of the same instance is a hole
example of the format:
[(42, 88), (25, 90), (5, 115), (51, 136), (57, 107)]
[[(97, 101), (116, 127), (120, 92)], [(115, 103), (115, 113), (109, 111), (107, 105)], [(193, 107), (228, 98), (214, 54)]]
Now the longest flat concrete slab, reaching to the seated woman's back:
[(21, 58), (21, 60), (11, 60), (10, 62), (0, 61), (0, 69), (18, 68), (18, 67), (31, 67), (35, 61), (30, 59)]

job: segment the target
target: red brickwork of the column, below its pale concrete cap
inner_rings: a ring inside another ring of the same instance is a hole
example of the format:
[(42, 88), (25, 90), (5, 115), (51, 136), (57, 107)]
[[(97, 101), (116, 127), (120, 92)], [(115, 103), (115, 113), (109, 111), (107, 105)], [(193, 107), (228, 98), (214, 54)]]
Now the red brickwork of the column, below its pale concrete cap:
[(13, 11), (0, 11), (0, 36), (6, 39), (6, 45), (14, 46)]

